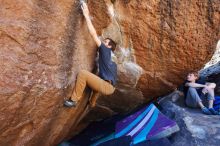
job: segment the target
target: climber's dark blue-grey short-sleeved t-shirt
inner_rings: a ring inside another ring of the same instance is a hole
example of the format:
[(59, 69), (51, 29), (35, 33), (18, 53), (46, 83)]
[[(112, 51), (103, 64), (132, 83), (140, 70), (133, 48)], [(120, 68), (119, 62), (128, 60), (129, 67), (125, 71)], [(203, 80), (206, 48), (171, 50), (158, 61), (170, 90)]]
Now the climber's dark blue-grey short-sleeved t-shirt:
[(99, 76), (103, 80), (111, 80), (113, 85), (116, 84), (117, 65), (111, 60), (111, 49), (103, 43), (99, 47)]

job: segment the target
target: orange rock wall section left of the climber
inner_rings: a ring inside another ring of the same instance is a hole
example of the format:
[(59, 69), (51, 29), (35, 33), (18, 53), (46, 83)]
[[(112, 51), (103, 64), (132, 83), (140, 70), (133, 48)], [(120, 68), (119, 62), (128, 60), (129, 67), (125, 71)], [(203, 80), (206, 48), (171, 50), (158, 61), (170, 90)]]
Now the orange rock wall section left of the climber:
[(54, 145), (84, 111), (62, 103), (92, 70), (94, 42), (76, 1), (0, 3), (0, 145)]

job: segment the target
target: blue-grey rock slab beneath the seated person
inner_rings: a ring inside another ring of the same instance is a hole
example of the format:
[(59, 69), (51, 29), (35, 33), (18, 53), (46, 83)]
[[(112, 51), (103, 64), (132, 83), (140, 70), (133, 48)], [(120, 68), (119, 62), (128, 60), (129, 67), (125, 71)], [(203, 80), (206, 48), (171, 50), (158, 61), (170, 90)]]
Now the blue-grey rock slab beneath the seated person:
[(169, 139), (173, 146), (217, 146), (220, 140), (219, 116), (204, 115), (199, 109), (190, 109), (172, 103), (160, 103), (165, 115), (174, 119), (180, 131)]

